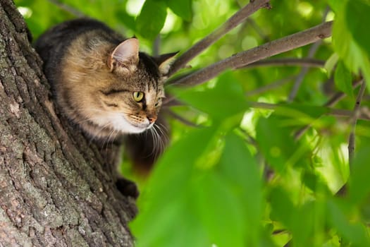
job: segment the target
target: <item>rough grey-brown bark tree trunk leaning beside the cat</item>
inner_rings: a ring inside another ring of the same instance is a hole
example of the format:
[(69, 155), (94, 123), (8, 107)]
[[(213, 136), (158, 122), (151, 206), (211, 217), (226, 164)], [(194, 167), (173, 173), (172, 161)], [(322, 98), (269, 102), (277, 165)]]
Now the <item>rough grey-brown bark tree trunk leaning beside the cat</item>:
[(23, 17), (0, 0), (0, 246), (132, 246), (119, 146), (89, 143), (49, 97)]

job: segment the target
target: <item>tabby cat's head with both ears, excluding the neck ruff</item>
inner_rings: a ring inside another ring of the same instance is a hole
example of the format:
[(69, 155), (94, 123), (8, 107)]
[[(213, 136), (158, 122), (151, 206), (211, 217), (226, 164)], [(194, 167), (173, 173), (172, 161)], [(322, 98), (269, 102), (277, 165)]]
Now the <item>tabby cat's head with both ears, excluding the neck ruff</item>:
[(154, 125), (162, 99), (164, 79), (175, 54), (152, 57), (139, 52), (135, 38), (125, 40), (106, 59), (109, 82), (99, 88), (101, 118), (94, 123), (121, 133), (141, 133)]

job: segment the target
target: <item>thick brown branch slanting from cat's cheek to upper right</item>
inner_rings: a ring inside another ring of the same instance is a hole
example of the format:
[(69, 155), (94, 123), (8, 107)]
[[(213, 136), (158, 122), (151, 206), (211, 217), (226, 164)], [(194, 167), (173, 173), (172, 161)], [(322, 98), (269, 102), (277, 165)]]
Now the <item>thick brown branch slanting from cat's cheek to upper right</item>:
[(173, 84), (178, 85), (198, 85), (204, 83), (211, 78), (218, 76), (219, 73), (228, 68), (240, 68), (247, 64), (252, 64), (255, 61), (265, 59), (266, 57), (288, 52), (297, 47), (302, 47), (306, 44), (311, 44), (318, 40), (331, 36), (332, 22), (316, 25), (314, 28), (309, 28), (302, 32), (297, 32), (293, 35), (283, 37), (279, 40), (263, 44), (259, 47), (254, 47), (245, 52), (240, 52), (227, 59), (218, 61), (216, 64), (211, 64), (206, 68), (202, 68), (190, 76), (180, 78)]

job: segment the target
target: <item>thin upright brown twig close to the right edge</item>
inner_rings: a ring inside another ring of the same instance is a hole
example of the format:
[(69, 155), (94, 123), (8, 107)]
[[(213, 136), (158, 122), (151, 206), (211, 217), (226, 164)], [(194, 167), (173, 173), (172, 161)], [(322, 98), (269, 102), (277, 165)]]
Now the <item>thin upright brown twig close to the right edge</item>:
[(359, 93), (357, 94), (356, 104), (354, 104), (354, 109), (352, 112), (352, 130), (350, 133), (350, 137), (348, 138), (348, 156), (349, 156), (350, 165), (352, 163), (352, 159), (354, 155), (354, 132), (356, 131), (357, 119), (361, 117), (360, 105), (362, 101), (362, 96), (364, 96), (365, 89), (366, 89), (366, 82), (362, 80), (361, 88), (359, 88)]

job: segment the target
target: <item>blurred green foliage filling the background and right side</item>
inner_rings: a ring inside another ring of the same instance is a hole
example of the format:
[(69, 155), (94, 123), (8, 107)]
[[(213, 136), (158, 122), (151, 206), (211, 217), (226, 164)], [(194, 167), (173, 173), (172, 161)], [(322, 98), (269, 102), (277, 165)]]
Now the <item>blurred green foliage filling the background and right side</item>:
[[(186, 49), (247, 4), (246, 0), (16, 0), (35, 38), (63, 20), (90, 16), (142, 50)], [(195, 88), (168, 90), (187, 106), (172, 110), (203, 127), (171, 120), (172, 142), (147, 181), (140, 213), (131, 224), (137, 246), (370, 246), (370, 123), (359, 120), (353, 164), (348, 164), (352, 121), (322, 107), (335, 92), (336, 107), (352, 110), (362, 74), (370, 83), (369, 1), (271, 1), (193, 59), (202, 68), (236, 52), (335, 20), (333, 37), (314, 55), (293, 103), (257, 109), (248, 102), (284, 103), (298, 66), (227, 71)], [(311, 46), (277, 57), (304, 58)], [(334, 83), (333, 83), (334, 81)], [(269, 86), (265, 90), (264, 87)], [(259, 89), (259, 92), (253, 90)], [(249, 93), (248, 97), (245, 94)], [(369, 106), (367, 94), (362, 100)], [(294, 133), (309, 125), (301, 138)], [(125, 174), (127, 174), (125, 169)], [(335, 195), (348, 181), (347, 194)]]

